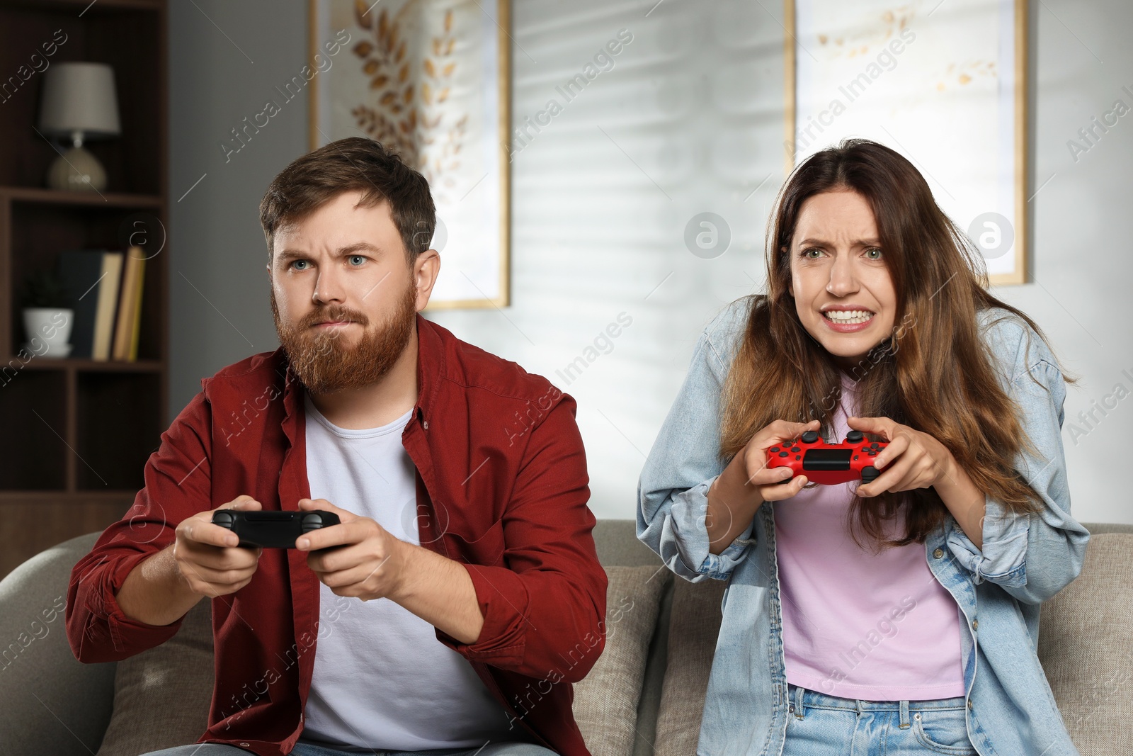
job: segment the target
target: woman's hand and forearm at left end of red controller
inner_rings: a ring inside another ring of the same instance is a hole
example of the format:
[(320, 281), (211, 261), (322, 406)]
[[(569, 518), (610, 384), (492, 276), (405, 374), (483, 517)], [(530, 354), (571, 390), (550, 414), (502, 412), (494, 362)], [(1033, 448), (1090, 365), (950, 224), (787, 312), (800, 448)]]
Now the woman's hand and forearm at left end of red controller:
[(743, 533), (765, 501), (790, 499), (807, 485), (807, 477), (792, 479), (786, 467), (767, 467), (767, 449), (798, 439), (803, 431), (817, 431), (818, 421), (775, 421), (751, 436), (708, 489), (708, 551), (718, 554)]

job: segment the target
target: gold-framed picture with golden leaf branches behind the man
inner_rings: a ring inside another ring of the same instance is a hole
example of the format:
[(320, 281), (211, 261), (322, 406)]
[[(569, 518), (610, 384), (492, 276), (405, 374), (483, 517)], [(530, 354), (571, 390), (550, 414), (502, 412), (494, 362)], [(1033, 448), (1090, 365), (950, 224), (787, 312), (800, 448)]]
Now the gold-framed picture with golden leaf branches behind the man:
[(310, 148), (365, 136), (399, 152), (436, 203), (428, 308), (506, 306), (509, 0), (308, 2)]

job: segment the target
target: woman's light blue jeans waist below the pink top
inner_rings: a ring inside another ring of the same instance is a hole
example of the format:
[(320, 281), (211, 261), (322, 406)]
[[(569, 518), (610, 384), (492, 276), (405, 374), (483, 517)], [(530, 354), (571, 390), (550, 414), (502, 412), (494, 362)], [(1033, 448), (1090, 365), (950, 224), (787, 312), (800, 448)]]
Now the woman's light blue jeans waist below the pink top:
[(961, 698), (853, 700), (787, 686), (783, 756), (974, 756)]

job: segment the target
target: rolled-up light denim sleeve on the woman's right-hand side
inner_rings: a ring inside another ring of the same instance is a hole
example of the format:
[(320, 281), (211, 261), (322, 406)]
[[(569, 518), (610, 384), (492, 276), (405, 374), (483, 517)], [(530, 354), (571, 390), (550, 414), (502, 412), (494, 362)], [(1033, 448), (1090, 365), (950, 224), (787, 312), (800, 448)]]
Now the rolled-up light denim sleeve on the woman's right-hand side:
[(983, 547), (977, 549), (952, 519), (946, 542), (974, 583), (995, 583), (1019, 601), (1037, 604), (1077, 577), (1090, 538), (1070, 515), (1062, 442), (1066, 388), (1046, 343), (1030, 328), (1011, 321), (991, 328), (996, 351), (1015, 356), (1005, 363), (1010, 372), (1003, 373), (1003, 383), (1020, 409), (1022, 431), (1034, 447), (1033, 453), (1020, 453), (1015, 469), (1038, 493), (1041, 507), (1033, 513), (1016, 515), (988, 496)]

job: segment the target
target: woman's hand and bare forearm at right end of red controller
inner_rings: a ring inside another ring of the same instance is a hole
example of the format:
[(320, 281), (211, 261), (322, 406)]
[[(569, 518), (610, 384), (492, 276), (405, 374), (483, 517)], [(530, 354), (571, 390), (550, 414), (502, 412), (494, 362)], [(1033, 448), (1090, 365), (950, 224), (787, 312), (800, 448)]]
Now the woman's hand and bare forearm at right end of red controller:
[(968, 538), (977, 549), (983, 547), (987, 498), (968, 477), (968, 473), (956, 465), (947, 447), (928, 433), (888, 417), (850, 417), (846, 423), (855, 431), (874, 433), (888, 442), (874, 458), (874, 467), (881, 474), (872, 482), (859, 485), (859, 496), (931, 486)]

